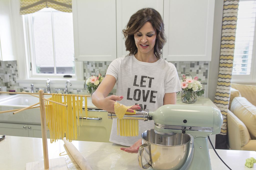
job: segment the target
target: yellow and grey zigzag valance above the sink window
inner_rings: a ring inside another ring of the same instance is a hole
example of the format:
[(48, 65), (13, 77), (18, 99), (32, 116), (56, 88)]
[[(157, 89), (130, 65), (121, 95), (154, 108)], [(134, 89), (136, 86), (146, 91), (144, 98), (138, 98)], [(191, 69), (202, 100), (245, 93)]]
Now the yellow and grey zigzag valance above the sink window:
[(43, 8), (72, 12), (72, 0), (20, 0), (20, 15), (30, 14)]

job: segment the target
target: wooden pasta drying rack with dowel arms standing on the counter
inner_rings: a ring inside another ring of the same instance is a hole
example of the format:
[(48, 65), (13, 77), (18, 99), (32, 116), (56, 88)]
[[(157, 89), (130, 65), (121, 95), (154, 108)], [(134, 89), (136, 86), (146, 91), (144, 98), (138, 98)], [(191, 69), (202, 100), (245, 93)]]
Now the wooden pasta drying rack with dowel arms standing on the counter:
[[(16, 114), (18, 112), (27, 110), (27, 109), (33, 109), (33, 108), (39, 108), (40, 107), (40, 120), (41, 120), (41, 131), (42, 131), (42, 145), (43, 145), (43, 154), (44, 154), (44, 166), (40, 164), (42, 161), (38, 162), (30, 162), (26, 165), (26, 170), (34, 170), (34, 169), (50, 169), (50, 170), (57, 170), (57, 169), (67, 169), (66, 161), (64, 158), (56, 158), (56, 159), (50, 159), (50, 165), (49, 167), (49, 158), (48, 158), (48, 146), (47, 146), (47, 127), (46, 127), (46, 112), (45, 112), (45, 100), (60, 104), (62, 106), (66, 106), (66, 104), (62, 104), (56, 101), (52, 101), (49, 99), (44, 98), (44, 95), (52, 95), (48, 93), (44, 93), (43, 90), (39, 90), (39, 93), (26, 93), (26, 92), (3, 92), (0, 91), (0, 93), (8, 93), (8, 94), (28, 94), (39, 98), (39, 102), (36, 104), (33, 104), (31, 106), (28, 106), (23, 109), (15, 109), (15, 110), (6, 110), (6, 111), (0, 111), (0, 113), (6, 113), (6, 112), (13, 112), (13, 114)], [(36, 96), (35, 94), (38, 94), (39, 96)], [(63, 94), (61, 94), (63, 96)], [(82, 95), (82, 97), (90, 97), (87, 95)], [(40, 106), (36, 106), (39, 104)], [(86, 104), (86, 103), (85, 103)]]

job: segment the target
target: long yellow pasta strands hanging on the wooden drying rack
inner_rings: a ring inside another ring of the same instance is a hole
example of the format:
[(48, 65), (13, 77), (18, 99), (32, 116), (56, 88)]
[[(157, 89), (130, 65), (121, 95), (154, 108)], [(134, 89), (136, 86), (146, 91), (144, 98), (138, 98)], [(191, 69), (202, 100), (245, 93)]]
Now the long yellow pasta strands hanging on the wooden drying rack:
[[(80, 100), (78, 95), (64, 95), (62, 101), (61, 94), (52, 94), (49, 98), (52, 101), (67, 105), (45, 101), (46, 123), (50, 132), (51, 143), (63, 139), (65, 136), (69, 141), (77, 139), (77, 131), (80, 133), (79, 115), (82, 116), (82, 95)], [(85, 102), (87, 110), (87, 102)]]

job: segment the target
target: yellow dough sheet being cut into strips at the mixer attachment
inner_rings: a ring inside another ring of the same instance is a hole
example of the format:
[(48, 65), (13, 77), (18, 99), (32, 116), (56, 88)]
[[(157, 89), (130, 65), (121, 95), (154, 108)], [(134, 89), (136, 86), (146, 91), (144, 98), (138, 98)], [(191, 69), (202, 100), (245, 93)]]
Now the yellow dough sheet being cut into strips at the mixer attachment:
[(138, 120), (134, 119), (123, 119), (125, 114), (136, 114), (126, 112), (127, 109), (132, 106), (125, 106), (121, 103), (115, 102), (114, 110), (115, 114), (118, 117), (117, 119), (117, 135), (120, 136), (137, 136), (138, 135)]

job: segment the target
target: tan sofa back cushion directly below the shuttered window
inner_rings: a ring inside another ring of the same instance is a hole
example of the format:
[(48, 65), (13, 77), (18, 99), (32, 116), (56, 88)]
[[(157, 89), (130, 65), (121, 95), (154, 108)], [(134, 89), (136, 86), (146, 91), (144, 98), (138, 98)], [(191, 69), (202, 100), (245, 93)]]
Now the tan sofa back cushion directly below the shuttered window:
[(242, 97), (256, 106), (256, 86), (231, 83), (231, 87), (237, 89)]

